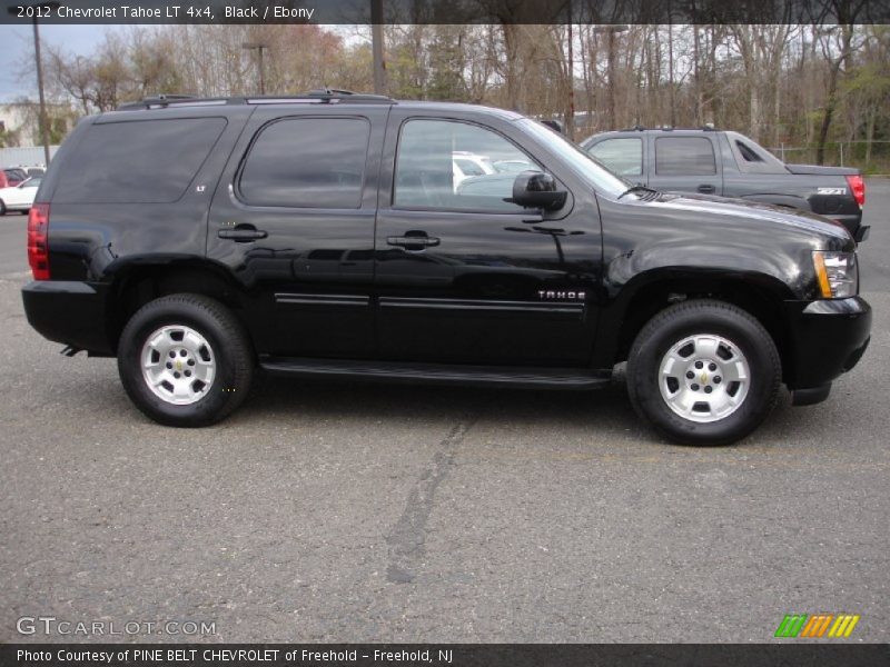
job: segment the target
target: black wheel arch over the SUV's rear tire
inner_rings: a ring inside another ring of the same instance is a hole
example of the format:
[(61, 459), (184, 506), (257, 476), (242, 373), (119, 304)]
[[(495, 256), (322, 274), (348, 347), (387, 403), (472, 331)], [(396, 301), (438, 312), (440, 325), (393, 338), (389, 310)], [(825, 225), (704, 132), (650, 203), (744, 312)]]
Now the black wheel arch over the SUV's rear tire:
[(241, 319), (243, 291), (222, 271), (208, 266), (138, 267), (118, 277), (109, 297), (108, 339), (115, 350), (123, 327), (137, 310), (157, 298), (185, 292), (216, 299)]

